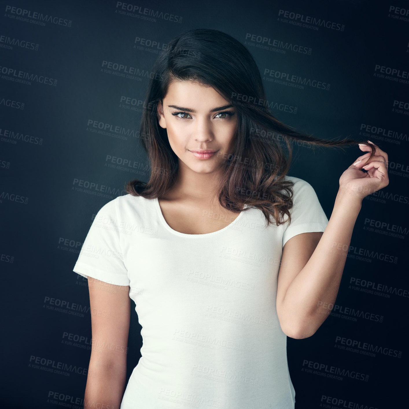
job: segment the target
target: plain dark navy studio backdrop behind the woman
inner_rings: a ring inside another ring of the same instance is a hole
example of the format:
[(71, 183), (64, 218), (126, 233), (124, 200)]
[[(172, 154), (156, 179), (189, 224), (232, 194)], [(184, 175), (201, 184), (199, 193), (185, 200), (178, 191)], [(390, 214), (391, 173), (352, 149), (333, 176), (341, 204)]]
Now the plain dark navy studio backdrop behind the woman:
[[(285, 124), (389, 155), (389, 185), (363, 200), (336, 302), (312, 337), (287, 338), (288, 364), (297, 409), (407, 405), (408, 2), (130, 1), (1, 2), (0, 406), (83, 407), (100, 312), (72, 269), (97, 211), (149, 179), (139, 123), (151, 68), (195, 28), (247, 47)], [(289, 175), (330, 218), (362, 151), (292, 148)], [(128, 378), (142, 346), (131, 307)]]

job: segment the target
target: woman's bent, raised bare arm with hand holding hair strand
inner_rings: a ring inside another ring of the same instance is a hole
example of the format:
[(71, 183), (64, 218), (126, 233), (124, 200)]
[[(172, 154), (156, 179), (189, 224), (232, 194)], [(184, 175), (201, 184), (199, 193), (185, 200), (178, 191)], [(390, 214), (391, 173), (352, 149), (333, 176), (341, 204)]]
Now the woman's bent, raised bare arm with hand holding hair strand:
[[(366, 145), (360, 148), (370, 149)], [(388, 155), (375, 148), (371, 162), (366, 165), (371, 152), (366, 153), (342, 174), (325, 231), (298, 234), (284, 245), (276, 307), (288, 337), (310, 337), (331, 312), (362, 199), (389, 184)]]

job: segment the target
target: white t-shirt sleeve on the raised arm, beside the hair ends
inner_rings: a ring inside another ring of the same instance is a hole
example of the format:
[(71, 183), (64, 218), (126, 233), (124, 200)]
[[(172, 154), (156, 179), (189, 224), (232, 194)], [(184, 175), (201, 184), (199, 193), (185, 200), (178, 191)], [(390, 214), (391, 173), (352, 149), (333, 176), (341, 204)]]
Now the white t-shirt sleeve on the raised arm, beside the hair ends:
[(290, 238), (297, 234), (324, 231), (328, 224), (328, 218), (319, 203), (314, 188), (305, 180), (293, 178), (293, 181), (291, 223), (285, 223), (283, 247)]

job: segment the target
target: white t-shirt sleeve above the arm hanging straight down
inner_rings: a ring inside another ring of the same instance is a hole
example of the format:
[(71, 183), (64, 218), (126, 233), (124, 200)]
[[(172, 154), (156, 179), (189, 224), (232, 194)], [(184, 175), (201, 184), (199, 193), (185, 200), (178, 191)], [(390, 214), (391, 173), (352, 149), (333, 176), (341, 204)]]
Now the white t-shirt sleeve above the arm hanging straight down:
[(73, 271), (106, 283), (129, 285), (118, 228), (117, 200), (111, 200), (98, 211)]

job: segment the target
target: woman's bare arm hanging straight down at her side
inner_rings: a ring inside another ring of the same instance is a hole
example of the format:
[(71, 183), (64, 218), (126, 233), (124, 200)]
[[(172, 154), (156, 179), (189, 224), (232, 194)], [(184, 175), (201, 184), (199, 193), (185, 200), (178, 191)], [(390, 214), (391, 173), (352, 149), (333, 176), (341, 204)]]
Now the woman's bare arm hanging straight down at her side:
[(125, 391), (130, 323), (129, 285), (88, 277), (92, 348), (84, 409), (119, 409)]

